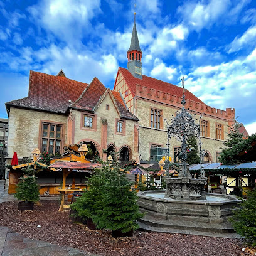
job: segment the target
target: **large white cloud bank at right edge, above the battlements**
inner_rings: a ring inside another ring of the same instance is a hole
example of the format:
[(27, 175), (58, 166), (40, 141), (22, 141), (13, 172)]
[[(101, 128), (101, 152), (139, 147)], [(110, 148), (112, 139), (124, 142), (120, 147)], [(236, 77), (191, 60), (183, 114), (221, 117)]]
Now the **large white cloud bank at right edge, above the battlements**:
[(255, 61), (256, 48), (240, 60), (198, 67), (189, 73), (186, 88), (211, 107), (223, 110), (235, 107), (243, 120), (253, 120), (256, 109)]

